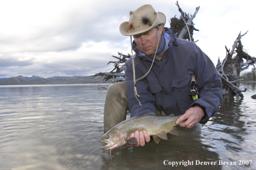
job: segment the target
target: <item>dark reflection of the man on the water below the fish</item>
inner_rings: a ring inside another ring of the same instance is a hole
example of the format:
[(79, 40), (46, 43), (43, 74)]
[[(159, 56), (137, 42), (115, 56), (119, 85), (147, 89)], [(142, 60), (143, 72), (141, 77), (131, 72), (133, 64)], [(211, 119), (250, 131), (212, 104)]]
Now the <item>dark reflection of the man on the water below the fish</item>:
[[(215, 161), (219, 160), (218, 155), (211, 151), (211, 146), (204, 145), (199, 140), (200, 132), (187, 132), (178, 128), (179, 137), (168, 135), (168, 140), (161, 140), (157, 145), (154, 142), (144, 147), (138, 147), (131, 150), (113, 150), (112, 156), (103, 155), (102, 169), (108, 167), (129, 167), (131, 169), (173, 169), (172, 165), (164, 165), (163, 162), (168, 160), (173, 162), (194, 162), (194, 165), (174, 165), (175, 168), (189, 168), (191, 170), (205, 169), (195, 166), (196, 161)], [(103, 151), (105, 154), (108, 151)], [(208, 169), (220, 169), (220, 166), (209, 165)]]

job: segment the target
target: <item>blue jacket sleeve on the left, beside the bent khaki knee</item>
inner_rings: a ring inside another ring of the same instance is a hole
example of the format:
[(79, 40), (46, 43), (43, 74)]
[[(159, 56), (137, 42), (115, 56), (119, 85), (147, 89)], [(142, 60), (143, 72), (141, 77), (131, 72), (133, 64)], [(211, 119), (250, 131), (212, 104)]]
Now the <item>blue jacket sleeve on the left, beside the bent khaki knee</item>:
[[(126, 80), (126, 90), (127, 90), (127, 99), (129, 111), (131, 117), (144, 115), (146, 113), (154, 112), (156, 114), (156, 108), (154, 106), (155, 98), (149, 90), (149, 84), (147, 79), (142, 79), (136, 83), (137, 94), (140, 97), (137, 97), (140, 100), (141, 106), (139, 105), (138, 100), (134, 94), (134, 82), (133, 82), (133, 71), (132, 71), (132, 58), (130, 58), (125, 63), (125, 80)], [(135, 61), (136, 63), (136, 61)], [(141, 73), (139, 64), (135, 64), (135, 73)], [(142, 75), (143, 76), (143, 75)], [(141, 76), (136, 74), (136, 79), (139, 79)]]

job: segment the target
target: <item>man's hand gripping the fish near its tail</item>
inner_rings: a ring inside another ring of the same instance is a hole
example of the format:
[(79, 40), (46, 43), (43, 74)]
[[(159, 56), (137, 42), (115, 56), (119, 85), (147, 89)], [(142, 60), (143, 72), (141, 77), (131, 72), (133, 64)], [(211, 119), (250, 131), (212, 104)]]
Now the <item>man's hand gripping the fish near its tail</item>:
[(180, 127), (190, 129), (194, 127), (204, 116), (203, 109), (198, 106), (190, 107), (187, 111), (176, 121), (179, 124), (181, 121), (186, 120), (184, 123), (180, 124)]

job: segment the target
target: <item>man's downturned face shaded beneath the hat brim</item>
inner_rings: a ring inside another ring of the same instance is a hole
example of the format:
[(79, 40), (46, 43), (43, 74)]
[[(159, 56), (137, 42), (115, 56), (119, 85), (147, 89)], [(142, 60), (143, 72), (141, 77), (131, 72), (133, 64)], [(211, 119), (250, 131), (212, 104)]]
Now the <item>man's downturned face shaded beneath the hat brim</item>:
[(148, 30), (145, 33), (140, 33), (137, 35), (134, 35), (134, 41), (140, 50), (140, 52), (143, 52), (145, 55), (152, 55), (156, 52), (156, 47), (158, 43), (158, 36), (159, 36), (159, 47), (161, 46), (161, 41), (162, 41), (162, 25), (159, 27), (159, 33), (158, 34), (158, 29), (153, 28), (151, 30)]

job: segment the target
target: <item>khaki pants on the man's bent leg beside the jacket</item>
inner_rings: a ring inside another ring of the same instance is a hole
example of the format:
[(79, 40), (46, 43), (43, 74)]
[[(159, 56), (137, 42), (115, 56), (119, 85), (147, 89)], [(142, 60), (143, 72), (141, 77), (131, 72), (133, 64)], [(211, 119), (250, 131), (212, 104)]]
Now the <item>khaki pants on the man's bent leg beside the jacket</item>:
[[(126, 82), (112, 84), (106, 91), (104, 105), (104, 133), (126, 119), (128, 101), (126, 93)], [(157, 115), (165, 115), (156, 109)]]

